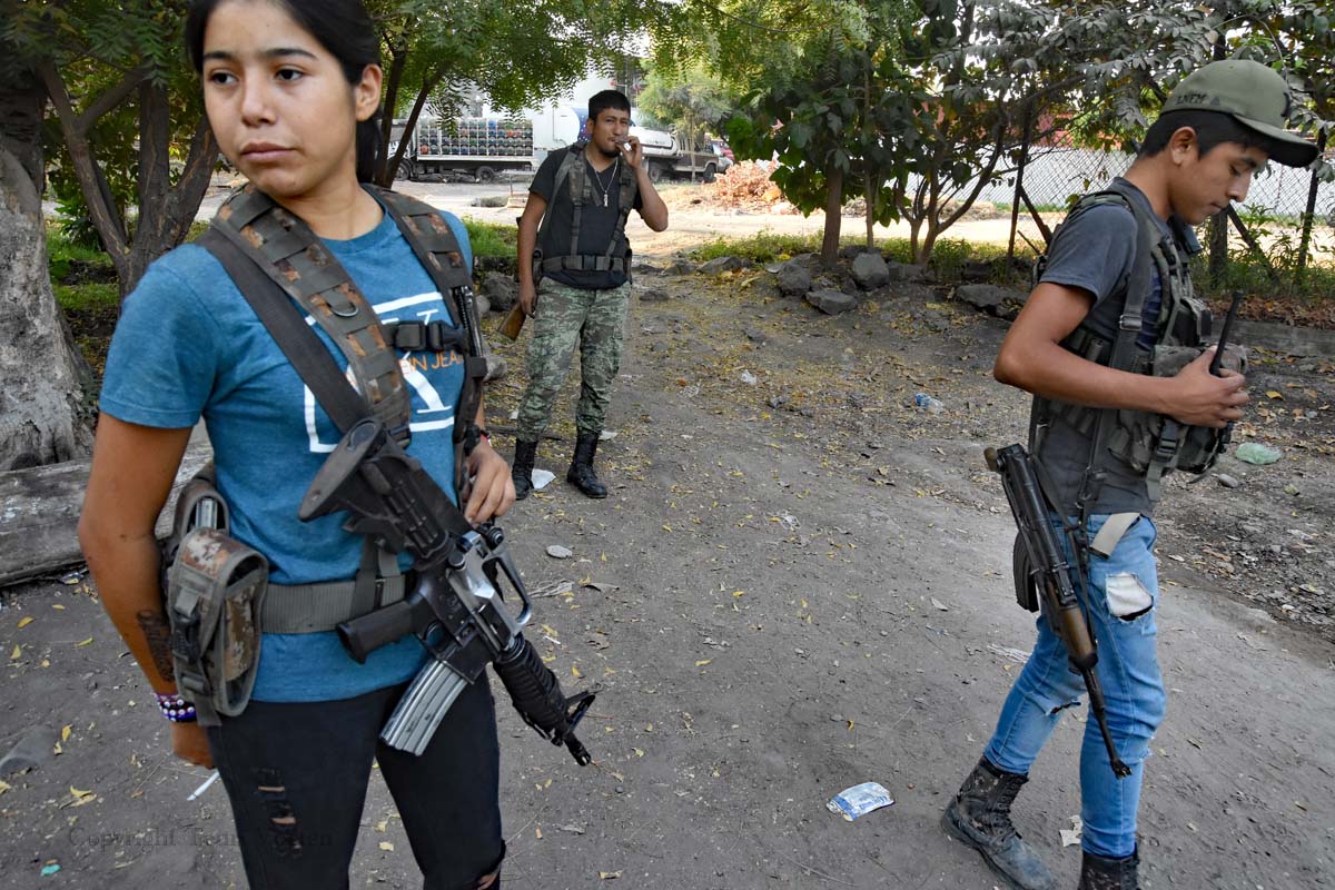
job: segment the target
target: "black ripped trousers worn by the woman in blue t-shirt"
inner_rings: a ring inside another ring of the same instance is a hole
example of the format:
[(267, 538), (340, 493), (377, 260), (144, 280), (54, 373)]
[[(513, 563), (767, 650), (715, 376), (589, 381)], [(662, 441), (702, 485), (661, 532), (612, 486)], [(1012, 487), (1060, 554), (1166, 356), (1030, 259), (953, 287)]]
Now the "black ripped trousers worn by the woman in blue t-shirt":
[(423, 887), (473, 890), (499, 869), (499, 749), (486, 681), (459, 695), (421, 757), (378, 738), (405, 689), (338, 702), (251, 702), (240, 717), (210, 727), (252, 890), (348, 886), (372, 758)]

